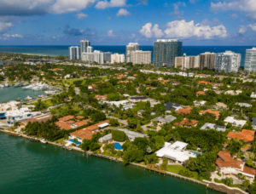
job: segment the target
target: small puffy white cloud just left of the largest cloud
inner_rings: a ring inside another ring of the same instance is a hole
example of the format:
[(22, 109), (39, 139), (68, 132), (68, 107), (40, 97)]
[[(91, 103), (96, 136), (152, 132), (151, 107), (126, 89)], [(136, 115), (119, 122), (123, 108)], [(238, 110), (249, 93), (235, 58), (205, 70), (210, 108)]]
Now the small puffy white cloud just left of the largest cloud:
[(161, 29), (158, 29), (159, 26), (157, 24), (154, 25), (152, 28), (151, 23), (147, 23), (145, 26), (143, 26), (143, 29), (140, 30), (139, 32), (143, 35), (143, 37), (151, 38), (151, 37), (156, 37), (160, 38), (164, 36), (164, 33)]

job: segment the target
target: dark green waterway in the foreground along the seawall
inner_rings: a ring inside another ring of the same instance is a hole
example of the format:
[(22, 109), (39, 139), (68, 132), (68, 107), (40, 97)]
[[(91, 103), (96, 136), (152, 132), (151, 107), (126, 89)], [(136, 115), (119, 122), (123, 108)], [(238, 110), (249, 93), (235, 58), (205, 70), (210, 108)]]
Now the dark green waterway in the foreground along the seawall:
[(217, 194), (186, 180), (0, 133), (0, 193)]

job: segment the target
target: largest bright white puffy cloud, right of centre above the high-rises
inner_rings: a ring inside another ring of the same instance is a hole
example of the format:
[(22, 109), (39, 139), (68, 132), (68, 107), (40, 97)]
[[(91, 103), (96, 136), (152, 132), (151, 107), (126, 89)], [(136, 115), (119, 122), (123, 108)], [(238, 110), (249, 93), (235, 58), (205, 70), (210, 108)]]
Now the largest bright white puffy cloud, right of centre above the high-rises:
[(201, 37), (210, 39), (212, 37), (227, 37), (227, 30), (223, 25), (205, 26), (202, 24), (194, 24), (194, 20), (186, 22), (185, 20), (175, 20), (167, 23), (165, 31), (166, 37), (172, 38), (188, 38)]

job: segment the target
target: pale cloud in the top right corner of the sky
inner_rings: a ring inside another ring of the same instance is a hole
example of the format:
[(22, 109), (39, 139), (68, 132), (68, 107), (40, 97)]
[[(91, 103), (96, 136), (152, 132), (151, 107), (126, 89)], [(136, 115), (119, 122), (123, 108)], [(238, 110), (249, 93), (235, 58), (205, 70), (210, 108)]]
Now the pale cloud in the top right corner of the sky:
[(220, 11), (242, 11), (247, 13), (248, 20), (256, 20), (256, 1), (255, 0), (224, 0), (222, 2), (211, 2), (213, 12)]

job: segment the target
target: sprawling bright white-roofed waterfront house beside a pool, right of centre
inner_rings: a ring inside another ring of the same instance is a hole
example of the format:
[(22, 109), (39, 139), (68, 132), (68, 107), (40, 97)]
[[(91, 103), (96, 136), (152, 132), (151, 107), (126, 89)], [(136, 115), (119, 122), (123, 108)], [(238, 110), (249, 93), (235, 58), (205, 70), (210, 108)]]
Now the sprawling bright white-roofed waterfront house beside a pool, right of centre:
[(195, 153), (184, 151), (184, 148), (187, 145), (188, 144), (181, 141), (176, 141), (174, 144), (166, 142), (159, 151), (155, 152), (155, 154), (157, 157), (166, 157), (177, 163), (183, 163), (184, 161), (189, 160), (189, 157), (196, 157)]

